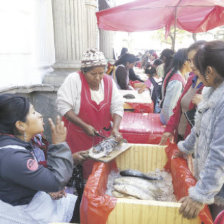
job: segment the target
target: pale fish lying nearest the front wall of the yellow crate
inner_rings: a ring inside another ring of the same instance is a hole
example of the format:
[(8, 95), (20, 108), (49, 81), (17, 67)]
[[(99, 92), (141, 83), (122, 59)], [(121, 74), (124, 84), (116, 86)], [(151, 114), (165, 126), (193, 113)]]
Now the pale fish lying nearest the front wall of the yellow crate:
[(154, 200), (154, 197), (150, 192), (145, 192), (140, 188), (132, 185), (115, 184), (114, 189), (122, 194), (128, 194), (142, 200)]

